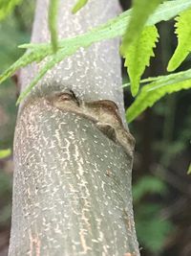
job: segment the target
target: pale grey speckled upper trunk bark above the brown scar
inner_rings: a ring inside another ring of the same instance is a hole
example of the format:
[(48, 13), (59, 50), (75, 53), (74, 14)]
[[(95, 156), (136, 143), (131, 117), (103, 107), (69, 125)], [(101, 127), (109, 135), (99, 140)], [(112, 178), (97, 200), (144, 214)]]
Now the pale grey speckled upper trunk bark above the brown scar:
[[(71, 12), (74, 3), (75, 0), (60, 0), (57, 22), (59, 38), (85, 33), (120, 12), (117, 0), (91, 0), (84, 9), (74, 15)], [(48, 6), (49, 0), (37, 1), (32, 42), (50, 41), (47, 23)], [(117, 38), (101, 41), (88, 49), (80, 48), (74, 56), (64, 59), (49, 71), (32, 90), (31, 97), (70, 88), (77, 97), (85, 101), (109, 99), (119, 106), (119, 112), (125, 124), (118, 44)], [(33, 63), (22, 69), (22, 90), (30, 84), (44, 62)]]

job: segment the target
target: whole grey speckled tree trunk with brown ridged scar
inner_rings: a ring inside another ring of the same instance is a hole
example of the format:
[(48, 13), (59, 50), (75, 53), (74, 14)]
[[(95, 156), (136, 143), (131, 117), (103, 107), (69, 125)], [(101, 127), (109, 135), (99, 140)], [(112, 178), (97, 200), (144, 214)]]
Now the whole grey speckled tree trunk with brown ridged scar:
[[(60, 0), (60, 38), (119, 12), (117, 0), (92, 0), (73, 15), (74, 2)], [(48, 4), (37, 1), (32, 42), (50, 38)], [(21, 90), (41, 64), (22, 70)], [(109, 40), (63, 60), (20, 105), (10, 256), (139, 255), (131, 188), (134, 141), (125, 129), (120, 88), (118, 40)]]

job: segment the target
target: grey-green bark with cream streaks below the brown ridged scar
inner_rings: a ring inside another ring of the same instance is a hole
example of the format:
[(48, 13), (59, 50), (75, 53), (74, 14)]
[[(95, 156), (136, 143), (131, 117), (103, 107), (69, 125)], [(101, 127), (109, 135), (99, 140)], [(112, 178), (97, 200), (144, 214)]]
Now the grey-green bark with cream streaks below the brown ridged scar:
[(40, 99), (25, 107), (16, 134), (11, 256), (31, 251), (29, 228), (40, 255), (121, 256), (138, 247), (123, 216), (127, 209), (133, 220), (131, 162), (120, 146)]

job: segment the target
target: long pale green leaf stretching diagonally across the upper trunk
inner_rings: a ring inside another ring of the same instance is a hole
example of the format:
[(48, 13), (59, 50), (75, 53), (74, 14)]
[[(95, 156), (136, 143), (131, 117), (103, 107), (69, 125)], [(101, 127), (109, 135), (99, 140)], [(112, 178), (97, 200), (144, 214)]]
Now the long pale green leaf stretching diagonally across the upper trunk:
[[(191, 0), (176, 0), (165, 2), (160, 5), (157, 11), (150, 16), (146, 25), (150, 26), (158, 23), (161, 20), (168, 20), (189, 7), (191, 8)], [(83, 35), (76, 35), (72, 38), (63, 39), (58, 42), (58, 49), (64, 49), (66, 53), (64, 56), (67, 57), (69, 55), (73, 55), (79, 47), (88, 47), (98, 41), (123, 35), (125, 33), (126, 24), (128, 23), (130, 14), (131, 11), (123, 12), (116, 18), (109, 20), (107, 23), (100, 25)], [(0, 76), (0, 83), (11, 77), (11, 75), (17, 69), (24, 67), (33, 61), (39, 62), (43, 58), (53, 55), (53, 47), (50, 45), (50, 43), (32, 43), (25, 44), (21, 47), (29, 48), (30, 51), (28, 51), (26, 54), (24, 54), (23, 57), (14, 62), (11, 67), (8, 68)], [(57, 51), (57, 53), (58, 52), (59, 51)]]

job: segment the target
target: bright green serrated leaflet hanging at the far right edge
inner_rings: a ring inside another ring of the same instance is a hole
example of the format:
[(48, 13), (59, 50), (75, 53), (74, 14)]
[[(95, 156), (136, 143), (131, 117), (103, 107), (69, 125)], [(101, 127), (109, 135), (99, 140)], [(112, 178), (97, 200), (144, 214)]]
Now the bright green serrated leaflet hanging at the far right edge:
[(191, 52), (191, 9), (181, 12), (180, 16), (175, 18), (176, 34), (178, 35), (178, 46), (168, 63), (167, 70), (174, 71), (177, 69), (181, 62)]

